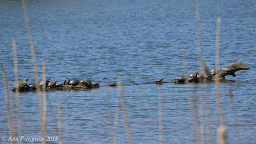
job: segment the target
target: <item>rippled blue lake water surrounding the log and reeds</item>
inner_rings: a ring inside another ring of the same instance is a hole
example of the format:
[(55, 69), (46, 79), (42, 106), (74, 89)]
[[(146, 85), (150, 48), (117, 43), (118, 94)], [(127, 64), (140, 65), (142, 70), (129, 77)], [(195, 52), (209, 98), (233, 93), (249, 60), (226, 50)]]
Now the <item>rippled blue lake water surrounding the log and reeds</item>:
[[(180, 47), (184, 47), (188, 72), (198, 71), (195, 1), (27, 1), (35, 44), (36, 62), (42, 77), (91, 78), (101, 81), (92, 90), (47, 92), (47, 136), (58, 136), (57, 101), (61, 101), (64, 143), (128, 143), (120, 93), (108, 83), (122, 77), (123, 84), (150, 83), (164, 77), (174, 81), (184, 74)], [(34, 81), (28, 33), (20, 1), (0, 1), (0, 67), (7, 72), (9, 88), (14, 84), (12, 38), (16, 38), (19, 79)], [(220, 67), (243, 61), (250, 70), (227, 76), (220, 84), (220, 105), (228, 128), (228, 143), (255, 143), (256, 93), (256, 1), (200, 1), (200, 44), (209, 68), (215, 67), (216, 17), (221, 16)], [(0, 78), (1, 81), (2, 77)], [(3, 83), (0, 83), (3, 87)], [(236, 118), (230, 107), (232, 88)], [(194, 87), (194, 88), (193, 88)], [(216, 141), (215, 84), (165, 83), (123, 86), (127, 118), (134, 143), (158, 143), (159, 111), (163, 143), (195, 143), (193, 117), (189, 112), (192, 90), (202, 105), (204, 138), (210, 122)], [(0, 88), (0, 136), (8, 136), (4, 89)], [(15, 93), (12, 93), (15, 97)], [(15, 102), (15, 99), (14, 99)], [(40, 137), (38, 101), (35, 92), (20, 93), (22, 135)], [(16, 107), (15, 107), (16, 110)], [(199, 111), (199, 110), (198, 110)], [(208, 111), (208, 112), (207, 112)], [(115, 115), (117, 117), (117, 127)], [(202, 122), (202, 116), (200, 117)], [(17, 118), (15, 118), (17, 122)], [(201, 123), (202, 124), (202, 123)], [(16, 125), (17, 128), (17, 125)], [(115, 132), (116, 131), (116, 132)], [(3, 143), (3, 141), (1, 141)], [(52, 141), (51, 143), (54, 143)]]

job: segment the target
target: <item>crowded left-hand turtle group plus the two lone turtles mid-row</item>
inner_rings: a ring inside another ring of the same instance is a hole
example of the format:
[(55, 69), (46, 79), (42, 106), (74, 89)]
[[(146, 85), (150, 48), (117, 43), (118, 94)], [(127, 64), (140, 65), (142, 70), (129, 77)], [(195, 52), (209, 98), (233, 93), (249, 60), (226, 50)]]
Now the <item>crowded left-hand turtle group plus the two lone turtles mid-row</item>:
[[(164, 79), (164, 78), (163, 78)], [(161, 83), (163, 79), (157, 79), (155, 83)], [(26, 79), (26, 81), (19, 81), (17, 82), (12, 90), (15, 91), (17, 88), (19, 91), (24, 90), (35, 90), (37, 88), (36, 83), (29, 83), (29, 78)], [(92, 79), (84, 79), (83, 81), (81, 79), (65, 79), (61, 83), (57, 83), (57, 81), (50, 81), (50, 78), (46, 79), (45, 81), (41, 81), (39, 83), (39, 87), (42, 88), (45, 85), (45, 88), (60, 88), (60, 87), (70, 87), (73, 88), (75, 86), (78, 87), (84, 87), (84, 88), (95, 88), (100, 86), (99, 82), (92, 82)], [(116, 82), (109, 83), (108, 86), (115, 87)]]

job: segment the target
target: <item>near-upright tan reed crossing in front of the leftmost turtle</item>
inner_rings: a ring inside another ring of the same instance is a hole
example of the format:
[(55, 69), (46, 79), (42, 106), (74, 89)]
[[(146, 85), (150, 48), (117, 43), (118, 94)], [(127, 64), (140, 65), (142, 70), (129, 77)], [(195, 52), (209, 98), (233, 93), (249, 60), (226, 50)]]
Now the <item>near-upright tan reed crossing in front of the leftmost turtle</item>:
[[(19, 76), (18, 76), (18, 63), (17, 63), (17, 47), (16, 47), (16, 40), (12, 38), (12, 47), (13, 47), (13, 67), (14, 67), (14, 74), (15, 74), (15, 83), (18, 83)], [(19, 138), (22, 136), (22, 127), (21, 127), (21, 116), (20, 116), (20, 93), (19, 88), (15, 88), (15, 95), (16, 95), (16, 105), (17, 105), (17, 115), (18, 115), (18, 133)], [(22, 141), (20, 141), (22, 144)]]

